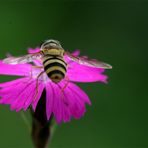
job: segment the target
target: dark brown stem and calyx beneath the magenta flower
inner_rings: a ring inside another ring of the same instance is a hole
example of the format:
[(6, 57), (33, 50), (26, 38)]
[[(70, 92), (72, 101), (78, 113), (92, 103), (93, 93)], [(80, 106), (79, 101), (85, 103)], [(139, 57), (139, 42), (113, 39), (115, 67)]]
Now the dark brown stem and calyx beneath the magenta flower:
[(35, 148), (47, 148), (50, 139), (51, 121), (46, 117), (46, 91), (44, 90), (32, 114), (32, 141)]

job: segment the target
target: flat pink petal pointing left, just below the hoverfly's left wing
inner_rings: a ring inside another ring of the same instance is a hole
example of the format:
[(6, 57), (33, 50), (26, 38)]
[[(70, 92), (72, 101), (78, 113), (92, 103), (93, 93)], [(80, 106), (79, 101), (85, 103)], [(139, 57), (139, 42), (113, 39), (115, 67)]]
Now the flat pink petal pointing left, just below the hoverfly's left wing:
[(0, 61), (0, 74), (1, 75), (17, 75), (29, 76), (31, 71), (30, 64), (5, 64)]

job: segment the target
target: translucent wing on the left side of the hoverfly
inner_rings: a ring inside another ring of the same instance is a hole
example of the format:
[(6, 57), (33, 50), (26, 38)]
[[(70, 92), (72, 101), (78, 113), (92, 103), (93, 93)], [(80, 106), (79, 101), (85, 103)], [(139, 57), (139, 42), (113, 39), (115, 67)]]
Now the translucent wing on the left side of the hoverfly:
[(32, 62), (33, 60), (41, 59), (41, 58), (42, 58), (42, 53), (38, 52), (34, 54), (27, 54), (20, 57), (10, 56), (4, 59), (3, 62), (6, 64), (24, 64), (24, 63)]

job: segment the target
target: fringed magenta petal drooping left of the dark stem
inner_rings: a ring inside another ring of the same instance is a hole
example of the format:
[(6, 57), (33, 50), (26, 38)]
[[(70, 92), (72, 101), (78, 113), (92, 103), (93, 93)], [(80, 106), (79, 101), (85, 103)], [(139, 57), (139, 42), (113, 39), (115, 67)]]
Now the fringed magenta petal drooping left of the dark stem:
[(11, 110), (19, 111), (21, 109), (26, 110), (33, 102), (33, 109), (35, 110), (38, 100), (40, 99), (42, 91), (44, 89), (44, 84), (42, 82), (39, 82), (39, 91), (36, 98), (35, 79), (30, 80), (29, 78), (21, 78), (1, 84), (0, 87), (1, 104), (10, 104)]

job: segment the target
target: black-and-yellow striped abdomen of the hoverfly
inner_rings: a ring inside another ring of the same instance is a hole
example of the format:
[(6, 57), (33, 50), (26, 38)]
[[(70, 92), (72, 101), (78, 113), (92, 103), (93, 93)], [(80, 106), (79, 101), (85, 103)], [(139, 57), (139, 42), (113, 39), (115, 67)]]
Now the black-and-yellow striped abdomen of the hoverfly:
[(61, 56), (45, 56), (43, 58), (44, 70), (55, 83), (60, 82), (66, 74), (67, 64)]

